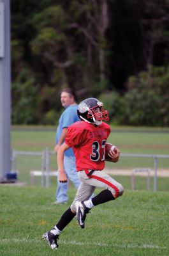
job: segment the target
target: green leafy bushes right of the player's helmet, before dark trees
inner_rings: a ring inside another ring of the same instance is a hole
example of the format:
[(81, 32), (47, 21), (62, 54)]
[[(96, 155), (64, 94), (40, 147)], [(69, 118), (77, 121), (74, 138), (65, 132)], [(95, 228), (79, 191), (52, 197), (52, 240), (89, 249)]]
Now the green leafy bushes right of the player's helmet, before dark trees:
[(128, 79), (128, 92), (100, 95), (114, 124), (169, 125), (169, 67), (149, 66), (146, 72)]

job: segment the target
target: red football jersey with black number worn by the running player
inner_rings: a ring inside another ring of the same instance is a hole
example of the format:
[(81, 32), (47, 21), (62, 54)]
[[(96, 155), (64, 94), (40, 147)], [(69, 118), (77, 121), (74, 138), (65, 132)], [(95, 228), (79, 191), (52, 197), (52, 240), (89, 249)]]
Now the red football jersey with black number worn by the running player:
[(77, 171), (103, 170), (105, 167), (105, 144), (110, 134), (110, 125), (102, 122), (94, 126), (84, 121), (68, 127), (65, 143), (73, 148)]

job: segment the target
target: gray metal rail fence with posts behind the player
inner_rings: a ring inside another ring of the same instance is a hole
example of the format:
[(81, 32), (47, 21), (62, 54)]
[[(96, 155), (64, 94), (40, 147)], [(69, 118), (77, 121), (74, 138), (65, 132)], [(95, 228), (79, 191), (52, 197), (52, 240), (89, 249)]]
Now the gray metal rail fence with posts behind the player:
[[(54, 151), (45, 148), (42, 152), (29, 152), (12, 150), (11, 166), (12, 170), (17, 170), (17, 156), (40, 156), (41, 157), (41, 186), (50, 186), (50, 155), (54, 155)], [(121, 157), (147, 157), (154, 161), (154, 191), (157, 191), (158, 179), (158, 159), (169, 158), (169, 155), (154, 155), (154, 154), (121, 154)]]

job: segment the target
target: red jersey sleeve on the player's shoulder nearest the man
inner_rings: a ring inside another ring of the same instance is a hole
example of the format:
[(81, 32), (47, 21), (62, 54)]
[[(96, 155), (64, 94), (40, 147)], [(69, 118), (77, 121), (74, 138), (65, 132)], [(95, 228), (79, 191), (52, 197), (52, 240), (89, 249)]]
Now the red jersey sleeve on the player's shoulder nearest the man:
[(65, 143), (70, 147), (82, 145), (84, 141), (84, 133), (85, 132), (83, 130), (77, 129), (77, 127), (68, 127)]

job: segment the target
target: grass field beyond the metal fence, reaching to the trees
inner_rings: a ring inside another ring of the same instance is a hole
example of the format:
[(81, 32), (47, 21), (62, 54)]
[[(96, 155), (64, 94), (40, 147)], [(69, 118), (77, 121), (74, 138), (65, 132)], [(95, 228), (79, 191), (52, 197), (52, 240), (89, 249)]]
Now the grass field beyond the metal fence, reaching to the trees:
[[(112, 133), (108, 138), (108, 142), (117, 145), (121, 153), (129, 154), (169, 154), (169, 131), (159, 132), (157, 129), (149, 129), (148, 132), (145, 129), (141, 131), (138, 128), (132, 128), (132, 131), (125, 129), (112, 128)], [(44, 131), (43, 129), (38, 129), (38, 127), (33, 127), (33, 129), (15, 128), (11, 132), (11, 145), (15, 150), (23, 151), (38, 151), (42, 152), (48, 147), (53, 150), (55, 144), (55, 131), (53, 129)], [(154, 159), (152, 158), (140, 158), (140, 157), (121, 157), (119, 163), (106, 163), (108, 168), (112, 169), (128, 169), (133, 168), (151, 168), (154, 170)], [(56, 170), (57, 163), (55, 155), (50, 156), (50, 170)], [(158, 172), (161, 169), (169, 169), (169, 158), (168, 159), (158, 159)], [(41, 157), (38, 156), (17, 156), (17, 170), (18, 180), (26, 181), (29, 185), (30, 170), (41, 170)], [(131, 188), (131, 177), (118, 177), (119, 181), (125, 180), (126, 188)], [(51, 186), (55, 186), (55, 179), (51, 178)], [(151, 189), (153, 190), (153, 178), (151, 178)], [(122, 182), (124, 183), (124, 182)], [(168, 191), (169, 190), (169, 179), (160, 177), (158, 178), (158, 190)], [(36, 178), (36, 185), (40, 185), (40, 177)], [(136, 188), (145, 189), (146, 179), (145, 177), (140, 177), (139, 181), (136, 180)]]

